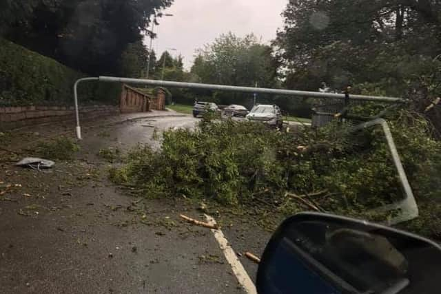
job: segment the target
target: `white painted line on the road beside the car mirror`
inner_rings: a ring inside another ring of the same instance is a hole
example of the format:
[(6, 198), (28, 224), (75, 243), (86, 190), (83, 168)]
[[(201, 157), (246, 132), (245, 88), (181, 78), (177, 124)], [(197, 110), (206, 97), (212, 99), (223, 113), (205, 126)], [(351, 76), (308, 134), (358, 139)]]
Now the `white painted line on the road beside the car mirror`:
[[(216, 220), (211, 216), (205, 214), (205, 218), (209, 224), (216, 224)], [(214, 238), (219, 243), (220, 249), (223, 251), (225, 258), (230, 266), (232, 266), (232, 270), (234, 275), (236, 275), (239, 284), (244, 288), (245, 292), (248, 294), (257, 294), (256, 286), (254, 286), (253, 281), (249, 277), (247, 271), (245, 271), (243, 265), (240, 263), (236, 253), (232, 249), (232, 246), (229, 244), (228, 240), (223, 235), (220, 229), (211, 229), (214, 233)]]

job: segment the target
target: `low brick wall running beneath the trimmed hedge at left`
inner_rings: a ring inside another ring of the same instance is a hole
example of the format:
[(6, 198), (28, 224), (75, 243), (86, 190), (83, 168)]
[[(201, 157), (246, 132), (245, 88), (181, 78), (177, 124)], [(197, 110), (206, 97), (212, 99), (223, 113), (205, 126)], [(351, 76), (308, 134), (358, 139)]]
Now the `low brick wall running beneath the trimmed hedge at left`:
[[(119, 114), (119, 107), (109, 105), (90, 105), (80, 107), (80, 116), (91, 119)], [(0, 129), (14, 129), (26, 125), (38, 125), (57, 121), (74, 120), (74, 107), (26, 106), (0, 107)]]

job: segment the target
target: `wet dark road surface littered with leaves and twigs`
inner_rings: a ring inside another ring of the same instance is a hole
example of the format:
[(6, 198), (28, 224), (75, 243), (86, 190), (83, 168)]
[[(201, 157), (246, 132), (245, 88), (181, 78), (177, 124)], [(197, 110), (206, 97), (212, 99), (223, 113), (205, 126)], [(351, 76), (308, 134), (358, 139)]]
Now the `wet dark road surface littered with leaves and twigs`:
[[(107, 179), (111, 165), (97, 156), (107, 147), (160, 147), (154, 132), (196, 123), (174, 112), (85, 122), (76, 160), (48, 173), (13, 163), (32, 156), (41, 140), (73, 137), (73, 125), (27, 127), (3, 138), (0, 191), (17, 187), (0, 196), (0, 293), (245, 293), (212, 231), (178, 217), (204, 220), (197, 203), (135, 198)], [(234, 251), (263, 252), (271, 232), (258, 216), (212, 212), (227, 224)], [(257, 265), (243, 256), (240, 262), (254, 280)]]

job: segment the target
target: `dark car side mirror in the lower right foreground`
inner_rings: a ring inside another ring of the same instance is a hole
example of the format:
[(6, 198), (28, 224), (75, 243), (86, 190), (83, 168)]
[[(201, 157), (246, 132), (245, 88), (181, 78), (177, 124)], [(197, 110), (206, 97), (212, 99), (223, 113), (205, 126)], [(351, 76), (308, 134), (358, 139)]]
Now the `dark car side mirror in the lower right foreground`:
[(440, 293), (441, 247), (379, 224), (299, 213), (260, 260), (258, 293)]

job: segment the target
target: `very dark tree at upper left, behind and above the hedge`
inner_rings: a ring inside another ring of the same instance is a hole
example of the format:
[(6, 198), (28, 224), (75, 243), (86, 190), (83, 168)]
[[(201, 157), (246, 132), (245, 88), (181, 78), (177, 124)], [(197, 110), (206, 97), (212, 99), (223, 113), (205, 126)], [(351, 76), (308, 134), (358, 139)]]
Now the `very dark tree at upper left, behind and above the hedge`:
[(10, 21), (4, 36), (83, 72), (119, 74), (127, 45), (140, 41), (148, 33), (150, 16), (173, 0), (31, 2), (32, 13)]

